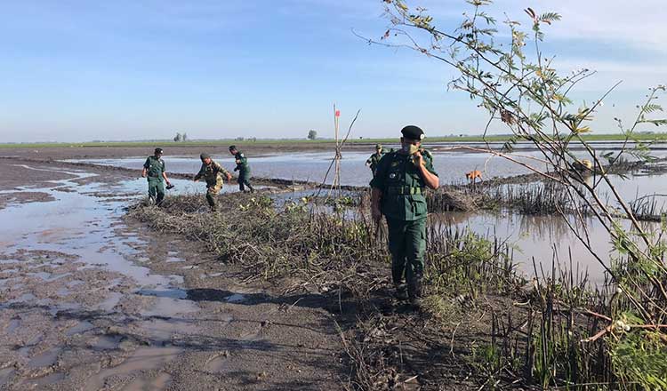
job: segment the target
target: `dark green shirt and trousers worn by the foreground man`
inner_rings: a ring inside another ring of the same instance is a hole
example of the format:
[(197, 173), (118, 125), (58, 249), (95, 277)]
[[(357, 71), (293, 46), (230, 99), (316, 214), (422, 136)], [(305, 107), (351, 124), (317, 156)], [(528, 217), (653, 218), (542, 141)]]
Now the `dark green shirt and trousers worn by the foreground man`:
[[(433, 170), (432, 156), (422, 150), (424, 164)], [(371, 187), (382, 191), (381, 211), (389, 227), (391, 275), (398, 286), (405, 274), (408, 294), (414, 297), (424, 268), (426, 250), (426, 185), (413, 156), (390, 152), (380, 160)]]

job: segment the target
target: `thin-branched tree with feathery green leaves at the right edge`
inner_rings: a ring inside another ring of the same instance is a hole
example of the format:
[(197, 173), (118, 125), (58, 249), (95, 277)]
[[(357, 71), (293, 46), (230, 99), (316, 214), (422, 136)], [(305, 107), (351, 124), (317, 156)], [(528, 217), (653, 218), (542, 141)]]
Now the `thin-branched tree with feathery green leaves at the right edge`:
[[(548, 28), (561, 19), (558, 13), (539, 13), (527, 8), (517, 19), (508, 16), (499, 23), (488, 12), (493, 4), (491, 0), (467, 0), (470, 12), (463, 14), (461, 24), (454, 31), (444, 31), (423, 7), (408, 5), (403, 0), (382, 0), (382, 3), (390, 26), (380, 39), (369, 40), (369, 43), (409, 48), (454, 69), (449, 88), (465, 92), (478, 107), (486, 110), (489, 115), (486, 131), (494, 125), (505, 127), (512, 134), (501, 149), (487, 144), (486, 151), (516, 161), (512, 157), (516, 155), (510, 155), (514, 146), (519, 141), (531, 143), (540, 156), (531, 157), (531, 163), (523, 165), (542, 175), (544, 180), (562, 186), (573, 203), (591, 211), (607, 230), (610, 242), (614, 243), (616, 252), (623, 255), (623, 261), (593, 250), (583, 213), (576, 216), (581, 219), (580, 224), (568, 222), (581, 243), (607, 270), (618, 291), (617, 299), (606, 308), (612, 326), (602, 334), (609, 336), (609, 351), (616, 354), (612, 363), (616, 365), (617, 379), (627, 384), (639, 382), (655, 387), (656, 383), (647, 382), (638, 373), (667, 377), (667, 373), (660, 372), (664, 365), (652, 362), (663, 354), (661, 344), (667, 340), (661, 326), (667, 323), (667, 268), (663, 261), (667, 248), (662, 240), (663, 229), (647, 229), (639, 224), (607, 172), (622, 163), (626, 156), (639, 161), (653, 159), (650, 142), (636, 135), (641, 126), (667, 124), (667, 119), (660, 117), (663, 108), (657, 102), (667, 88), (658, 85), (649, 89), (629, 126), (616, 119), (624, 137), (623, 146), (618, 151), (602, 153), (583, 135), (595, 131), (595, 116), (618, 84), (610, 86), (598, 100), (575, 102), (572, 96), (577, 85), (594, 76), (595, 71), (579, 68), (562, 72), (555, 55), (542, 52)], [(573, 153), (575, 145), (583, 148), (585, 158), (594, 164), (592, 179), (578, 169), (581, 156)], [(611, 202), (601, 194), (603, 188), (610, 192)], [(565, 213), (561, 212), (567, 220)], [(630, 221), (631, 229), (623, 225), (623, 220)], [(631, 332), (616, 332), (614, 322), (629, 315), (633, 319)], [(631, 356), (627, 355), (627, 350), (649, 338), (662, 342), (650, 346), (640, 344), (645, 349), (641, 355), (635, 355), (640, 363), (617, 355), (625, 352), (626, 358)], [(623, 370), (620, 363), (637, 364), (641, 370)], [(546, 384), (554, 384), (551, 383), (554, 381), (547, 379)]]

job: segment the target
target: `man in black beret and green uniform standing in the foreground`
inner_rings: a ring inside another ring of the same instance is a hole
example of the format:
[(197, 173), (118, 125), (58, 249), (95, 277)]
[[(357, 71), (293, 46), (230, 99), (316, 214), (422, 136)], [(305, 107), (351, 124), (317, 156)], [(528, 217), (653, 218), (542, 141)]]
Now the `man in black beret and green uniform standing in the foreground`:
[(426, 250), (425, 192), (426, 188), (437, 189), (439, 179), (432, 156), (421, 148), (422, 129), (410, 125), (401, 133), (401, 149), (382, 156), (371, 180), (371, 213), (376, 224), (382, 215), (387, 219), (391, 276), (397, 298), (409, 299), (418, 306)]

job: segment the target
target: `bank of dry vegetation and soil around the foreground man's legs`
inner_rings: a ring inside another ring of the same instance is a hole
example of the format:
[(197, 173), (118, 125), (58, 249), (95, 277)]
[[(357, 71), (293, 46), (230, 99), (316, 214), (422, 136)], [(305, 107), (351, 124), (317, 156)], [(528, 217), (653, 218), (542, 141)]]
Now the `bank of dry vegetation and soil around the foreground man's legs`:
[(184, 195), (163, 208), (137, 205), (129, 216), (204, 243), (221, 262), (244, 267), (246, 281), (319, 296), (338, 316), (350, 389), (616, 388), (623, 373), (610, 357), (623, 355), (610, 355), (605, 338), (589, 339), (607, 324), (609, 292), (591, 291), (585, 275), (556, 263), (544, 275), (535, 267), (541, 277), (528, 282), (506, 243), (434, 220), (428, 296), (415, 312), (391, 298), (383, 227), (365, 219), (363, 206), (341, 206), (361, 201), (278, 208), (264, 195), (235, 194), (207, 213), (203, 197)]

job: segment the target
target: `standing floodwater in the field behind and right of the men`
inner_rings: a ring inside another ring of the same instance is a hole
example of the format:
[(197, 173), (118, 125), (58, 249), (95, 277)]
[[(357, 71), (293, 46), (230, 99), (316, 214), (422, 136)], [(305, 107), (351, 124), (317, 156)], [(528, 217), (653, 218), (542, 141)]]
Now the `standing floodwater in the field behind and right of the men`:
[[(494, 176), (511, 176), (526, 173), (517, 164), (513, 164), (501, 157), (492, 157), (484, 154), (464, 152), (437, 152), (435, 164), (440, 174), (441, 183), (460, 183), (460, 173), (465, 172), (468, 167), (483, 168), (486, 164), (487, 172), (493, 172)], [(534, 153), (534, 152), (532, 152)], [(656, 151), (659, 155), (661, 151)], [(167, 157), (165, 158), (169, 171), (172, 172), (196, 172), (200, 163), (194, 157)], [(369, 170), (365, 166), (366, 154), (351, 152), (344, 155), (342, 160), (342, 183), (347, 185), (364, 186), (371, 179)], [(228, 156), (219, 156), (217, 159), (221, 164), (231, 167), (233, 162)], [(106, 160), (88, 160), (87, 163), (114, 165), (125, 168), (141, 167), (143, 158), (123, 158)], [(253, 175), (261, 177), (278, 177), (294, 180), (321, 180), (331, 163), (330, 155), (326, 153), (293, 153), (281, 156), (260, 156), (253, 158)], [(625, 176), (610, 175), (618, 193), (627, 202), (639, 197), (649, 196), (654, 200), (658, 210), (663, 210), (667, 201), (667, 189), (663, 185), (665, 179), (662, 170), (636, 171)], [(599, 177), (591, 176), (589, 184), (599, 181)], [(140, 185), (137, 185), (140, 186)], [(526, 186), (526, 184), (508, 185)], [(532, 186), (529, 184), (528, 186)], [(141, 187), (141, 186), (140, 186)], [(600, 181), (598, 184), (599, 195), (609, 205), (618, 207), (606, 183)], [(231, 187), (230, 187), (231, 188)], [(183, 185), (182, 190), (192, 191), (190, 185)], [(279, 195), (278, 201), (284, 203), (285, 199), (298, 201), (301, 197), (312, 195), (312, 191), (301, 191), (295, 194), (287, 193)], [(655, 195), (655, 196), (653, 196)], [(442, 215), (433, 214), (437, 219), (453, 227), (469, 227), (475, 233), (489, 237), (497, 237), (501, 241), (512, 244), (516, 251), (515, 259), (519, 262), (521, 270), (527, 275), (534, 274), (533, 259), (538, 263), (548, 262), (557, 254), (559, 261), (579, 265), (581, 270), (588, 271), (592, 283), (603, 281), (604, 268), (599, 265), (582, 243), (573, 235), (567, 224), (557, 215), (549, 216), (526, 216), (510, 212), (447, 212)], [(591, 235), (593, 249), (611, 256), (612, 246), (609, 243), (607, 232), (599, 225), (599, 222), (590, 219), (588, 230)]]

